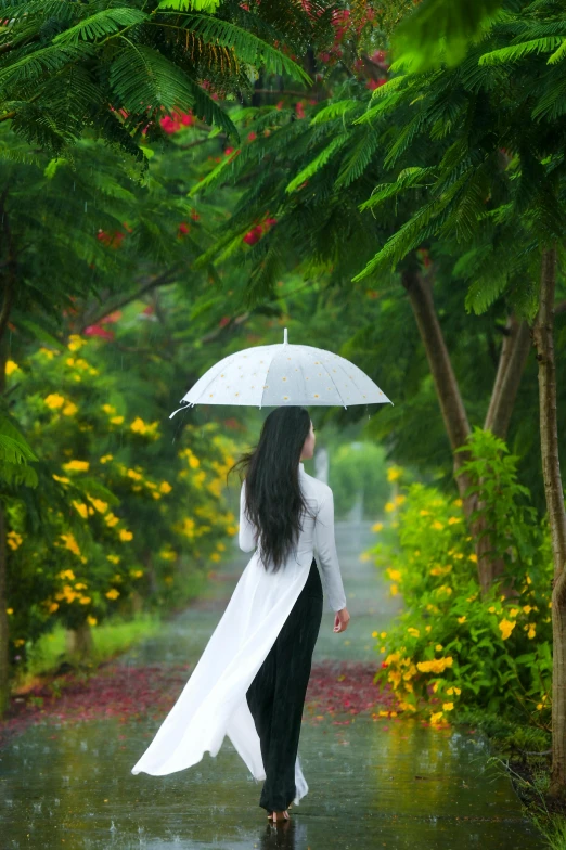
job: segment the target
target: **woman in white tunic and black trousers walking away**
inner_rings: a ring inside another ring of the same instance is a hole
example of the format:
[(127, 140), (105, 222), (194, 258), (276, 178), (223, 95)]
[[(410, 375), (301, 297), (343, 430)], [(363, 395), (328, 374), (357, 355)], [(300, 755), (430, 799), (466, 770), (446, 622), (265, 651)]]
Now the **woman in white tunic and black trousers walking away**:
[(334, 631), (349, 621), (327, 485), (305, 472), (314, 429), (308, 411), (275, 408), (258, 446), (232, 467), (240, 492), (239, 543), (256, 549), (177, 703), (132, 773), (160, 776), (216, 756), (228, 735), (256, 780), (259, 806), (288, 820), (308, 786), (297, 756), (300, 717), (322, 617), (317, 551)]

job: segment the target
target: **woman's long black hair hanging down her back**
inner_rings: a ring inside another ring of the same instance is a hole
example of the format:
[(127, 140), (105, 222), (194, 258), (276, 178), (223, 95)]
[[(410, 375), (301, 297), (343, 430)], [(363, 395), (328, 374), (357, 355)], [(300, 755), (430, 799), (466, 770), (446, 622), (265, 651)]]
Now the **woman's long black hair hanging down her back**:
[[(276, 572), (296, 548), (300, 515), (309, 507), (299, 486), (299, 461), (310, 432), (306, 408), (275, 408), (266, 417), (259, 442), (230, 468), (245, 475), (247, 516), (258, 529), (258, 554)], [(242, 480), (242, 479), (241, 479)]]

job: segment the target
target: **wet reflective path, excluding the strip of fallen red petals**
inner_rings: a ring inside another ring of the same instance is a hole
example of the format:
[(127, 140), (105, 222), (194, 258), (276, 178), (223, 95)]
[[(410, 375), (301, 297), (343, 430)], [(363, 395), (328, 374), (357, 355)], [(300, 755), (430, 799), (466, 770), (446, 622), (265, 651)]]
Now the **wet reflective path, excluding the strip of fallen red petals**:
[[(336, 524), (351, 615), (344, 634), (325, 609), (313, 665), (378, 662), (371, 632), (400, 607), (371, 563), (370, 524)], [(125, 655), (125, 683), (140, 665), (197, 660), (249, 554), (234, 550), (206, 597)], [(511, 783), (487, 764), (486, 743), (467, 730), (417, 721), (349, 725), (306, 717), (299, 755), (309, 784), (292, 821), (267, 824), (260, 783), (228, 739), (218, 756), (169, 776), (130, 773), (163, 718), (43, 722), (0, 751), (0, 847), (179, 848), (182, 850), (535, 850), (546, 847), (522, 815)]]

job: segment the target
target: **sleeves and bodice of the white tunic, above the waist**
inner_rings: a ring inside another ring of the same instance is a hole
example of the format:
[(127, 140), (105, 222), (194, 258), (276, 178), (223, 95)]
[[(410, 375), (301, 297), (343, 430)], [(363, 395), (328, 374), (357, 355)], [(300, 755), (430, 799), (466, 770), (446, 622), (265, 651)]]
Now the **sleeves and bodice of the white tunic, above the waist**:
[[(305, 472), (303, 463), (299, 463), (299, 482), (316, 518), (308, 514), (303, 517), (296, 563), (307, 565), (316, 557), (330, 606), (335, 611), (342, 610), (346, 607), (346, 594), (334, 537), (334, 495), (326, 484)], [(245, 512), (245, 481), (240, 491), (239, 543), (243, 552), (252, 552), (257, 545), (257, 528)]]

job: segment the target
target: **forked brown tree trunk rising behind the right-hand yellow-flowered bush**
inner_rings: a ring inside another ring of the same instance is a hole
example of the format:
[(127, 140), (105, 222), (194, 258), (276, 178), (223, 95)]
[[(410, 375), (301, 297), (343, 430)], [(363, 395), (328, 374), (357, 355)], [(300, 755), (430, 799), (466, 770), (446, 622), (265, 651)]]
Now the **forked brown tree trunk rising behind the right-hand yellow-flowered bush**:
[[(489, 532), (486, 518), (479, 516), (474, 520), (471, 519), (474, 511), (483, 508), (483, 503), (478, 501), (476, 493), (464, 494), (472, 484), (469, 475), (461, 471), (462, 464), (468, 459), (468, 454), (467, 452), (455, 452), (454, 450), (466, 443), (471, 434), (469, 423), (458, 379), (452, 369), (450, 355), (446, 347), (442, 330), (436, 314), (430, 284), (414, 269), (406, 270), (402, 273), (401, 282), (409, 296), (421, 339), (425, 347), (445, 427), (450, 446), (454, 452), (454, 477), (462, 499), (469, 533), (474, 540), (479, 587), (484, 594), (491, 587), (494, 579), (503, 572), (504, 562), (502, 558), (494, 558), (491, 555), (490, 536), (485, 533), (486, 531)], [(502, 347), (501, 359), (503, 362), (500, 363), (498, 369), (498, 378), (493, 388), (494, 398), (491, 400), (490, 412), (488, 413), (493, 426), (504, 433), (506, 433), (511, 417), (511, 413), (505, 408), (506, 405), (512, 408), (522, 371), (525, 368), (526, 355), (528, 355), (528, 346), (525, 344), (524, 336), (524, 330), (520, 330), (520, 333), (510, 334), (510, 342)], [(524, 351), (525, 347), (527, 349), (526, 353)], [(500, 433), (498, 436), (504, 437), (504, 433)], [(504, 584), (501, 591), (506, 596), (516, 595), (516, 591), (509, 584)]]

